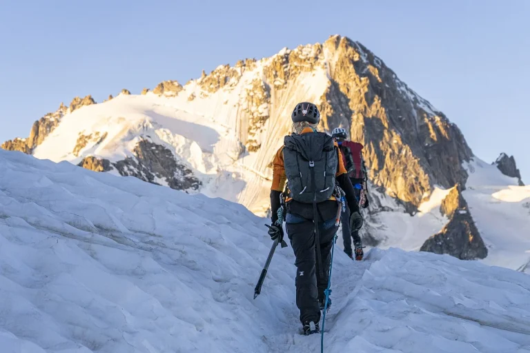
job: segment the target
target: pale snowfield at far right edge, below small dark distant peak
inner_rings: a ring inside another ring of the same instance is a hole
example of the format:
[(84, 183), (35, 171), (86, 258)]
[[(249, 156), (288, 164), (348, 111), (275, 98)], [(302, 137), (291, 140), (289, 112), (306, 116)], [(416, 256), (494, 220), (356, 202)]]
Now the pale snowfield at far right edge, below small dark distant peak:
[(475, 159), (463, 195), (489, 248), (484, 262), (529, 272), (530, 186), (518, 186), (495, 165)]

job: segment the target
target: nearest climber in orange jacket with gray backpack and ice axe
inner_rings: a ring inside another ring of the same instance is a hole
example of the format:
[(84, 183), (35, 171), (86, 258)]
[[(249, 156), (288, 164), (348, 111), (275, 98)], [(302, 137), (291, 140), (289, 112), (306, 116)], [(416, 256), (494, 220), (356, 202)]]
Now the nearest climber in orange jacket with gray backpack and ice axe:
[(284, 137), (273, 160), (268, 234), (273, 241), (283, 240), (284, 230), (277, 221), (278, 210), (284, 210), (282, 218), (296, 257), (296, 305), (304, 334), (313, 334), (320, 332), (320, 311), (331, 304), (326, 301), (331, 249), (345, 201), (351, 216), (342, 221), (352, 232), (360, 230), (363, 219), (337, 143), (317, 132), (317, 107), (298, 103), (291, 119), (292, 134)]

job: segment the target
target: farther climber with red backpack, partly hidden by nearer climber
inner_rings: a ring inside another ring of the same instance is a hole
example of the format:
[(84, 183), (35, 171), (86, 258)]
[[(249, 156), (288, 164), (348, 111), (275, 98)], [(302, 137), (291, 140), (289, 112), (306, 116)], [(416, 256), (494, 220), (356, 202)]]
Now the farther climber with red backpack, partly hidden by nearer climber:
[[(362, 149), (364, 146), (362, 143), (348, 141), (346, 130), (344, 128), (335, 128), (332, 132), (333, 139), (339, 145), (340, 151), (342, 152), (342, 158), (348, 177), (355, 190), (355, 199), (357, 199), (359, 205), (362, 208), (367, 208), (369, 205), (368, 201), (368, 188), (366, 183), (366, 165), (362, 157)], [(350, 210), (345, 209), (342, 217), (348, 219)], [(353, 238), (354, 250), (351, 249), (351, 239)], [(355, 252), (355, 260), (362, 260), (364, 252), (362, 250), (362, 241), (359, 236), (359, 232), (350, 230), (348, 223), (342, 223), (342, 240), (344, 241), (344, 252), (351, 259), (353, 259), (353, 253)]]

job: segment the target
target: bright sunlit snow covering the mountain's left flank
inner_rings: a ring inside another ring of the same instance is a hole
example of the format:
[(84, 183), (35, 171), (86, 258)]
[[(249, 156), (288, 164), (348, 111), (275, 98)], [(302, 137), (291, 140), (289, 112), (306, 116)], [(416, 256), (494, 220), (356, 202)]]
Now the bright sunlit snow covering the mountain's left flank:
[[(176, 100), (155, 94), (120, 94), (110, 101), (83, 107), (63, 117), (34, 155), (74, 164), (87, 155), (115, 162), (133, 157), (135, 145), (146, 138), (170, 149), (177, 161), (188, 165), (207, 185), (201, 190), (204, 194), (239, 201), (239, 193), (255, 175), (244, 168), (244, 163), (235, 164), (241, 153), (235, 126), (216, 121), (214, 115), (180, 110)], [(106, 134), (106, 138), (101, 143), (92, 140), (76, 155), (79, 134), (95, 133)], [(111, 172), (117, 174), (116, 170)]]

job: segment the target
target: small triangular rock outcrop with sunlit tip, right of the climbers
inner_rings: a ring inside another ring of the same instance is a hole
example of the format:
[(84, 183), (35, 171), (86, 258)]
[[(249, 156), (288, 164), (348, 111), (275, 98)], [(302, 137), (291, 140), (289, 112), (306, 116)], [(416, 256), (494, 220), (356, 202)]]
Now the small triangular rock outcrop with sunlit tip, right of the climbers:
[(459, 185), (449, 192), (440, 210), (450, 217), (449, 223), (438, 234), (427, 239), (420, 251), (449, 254), (461, 260), (484, 259), (488, 255), (488, 249), (473, 221), (467, 202), (462, 197)]

